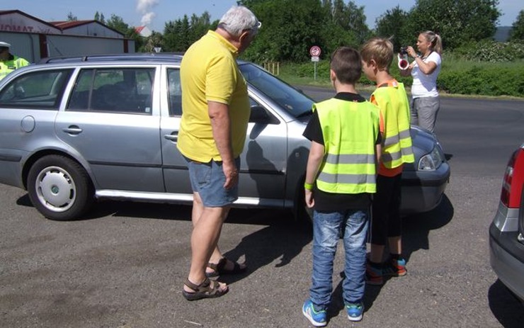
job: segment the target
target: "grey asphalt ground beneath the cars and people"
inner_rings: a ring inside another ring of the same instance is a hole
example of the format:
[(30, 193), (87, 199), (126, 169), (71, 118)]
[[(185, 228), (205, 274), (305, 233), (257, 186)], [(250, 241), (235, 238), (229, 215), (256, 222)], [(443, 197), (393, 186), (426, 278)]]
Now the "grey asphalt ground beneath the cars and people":
[[(489, 266), (488, 227), (524, 142), (524, 101), (443, 98), (441, 108), (452, 176), (438, 208), (405, 220), (408, 275), (369, 287), (353, 324), (339, 248), (328, 327), (522, 327), (524, 306)], [(190, 207), (107, 202), (85, 220), (53, 222), (25, 191), (0, 186), (0, 208), (0, 327), (310, 327), (300, 307), (312, 233), (286, 211), (232, 210), (220, 247), (249, 271), (222, 278), (224, 297), (187, 302)]]

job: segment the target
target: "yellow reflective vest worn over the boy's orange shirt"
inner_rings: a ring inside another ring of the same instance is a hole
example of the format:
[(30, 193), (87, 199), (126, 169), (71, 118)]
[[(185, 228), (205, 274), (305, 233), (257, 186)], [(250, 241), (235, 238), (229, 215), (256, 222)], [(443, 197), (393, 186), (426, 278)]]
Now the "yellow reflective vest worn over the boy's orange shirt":
[(384, 119), (381, 162), (387, 169), (415, 162), (409, 134), (409, 102), (404, 84), (397, 81), (379, 86), (371, 95)]

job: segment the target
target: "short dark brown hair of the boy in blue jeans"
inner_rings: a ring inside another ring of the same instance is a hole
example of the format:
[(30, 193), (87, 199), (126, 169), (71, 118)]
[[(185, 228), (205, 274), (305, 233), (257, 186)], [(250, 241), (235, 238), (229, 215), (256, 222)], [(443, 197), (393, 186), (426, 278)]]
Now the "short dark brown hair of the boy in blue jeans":
[(362, 61), (357, 50), (338, 47), (331, 55), (331, 69), (343, 84), (355, 84), (362, 74)]

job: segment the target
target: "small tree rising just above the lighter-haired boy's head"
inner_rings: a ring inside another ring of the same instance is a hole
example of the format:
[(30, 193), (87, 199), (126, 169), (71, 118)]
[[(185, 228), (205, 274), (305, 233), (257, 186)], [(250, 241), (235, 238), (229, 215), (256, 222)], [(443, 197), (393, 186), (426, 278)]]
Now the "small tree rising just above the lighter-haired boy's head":
[(411, 40), (411, 35), (406, 33), (408, 19), (409, 13), (397, 5), (375, 20), (375, 33), (382, 38), (392, 38), (394, 50), (398, 52), (400, 47), (409, 44), (408, 41)]

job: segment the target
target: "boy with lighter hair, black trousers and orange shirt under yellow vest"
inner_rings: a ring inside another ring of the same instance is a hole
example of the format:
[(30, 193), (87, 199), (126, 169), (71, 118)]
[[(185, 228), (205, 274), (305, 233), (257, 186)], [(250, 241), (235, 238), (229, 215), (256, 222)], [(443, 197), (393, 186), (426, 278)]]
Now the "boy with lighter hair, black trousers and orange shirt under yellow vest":
[[(409, 101), (404, 84), (389, 74), (393, 45), (385, 38), (372, 38), (360, 50), (363, 70), (377, 83), (370, 101), (380, 108), (382, 155), (377, 176), (377, 193), (373, 197), (370, 258), (366, 281), (382, 285), (386, 276), (404, 276), (406, 261), (402, 258), (402, 220), (399, 214), (401, 174), (404, 163), (413, 163), (409, 133)], [(389, 259), (382, 261), (386, 242)]]

